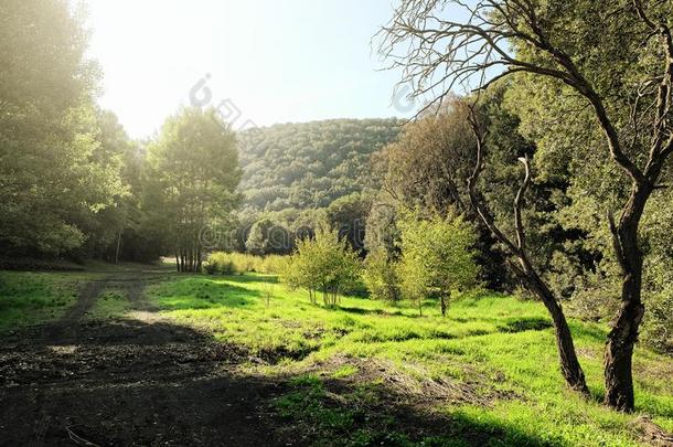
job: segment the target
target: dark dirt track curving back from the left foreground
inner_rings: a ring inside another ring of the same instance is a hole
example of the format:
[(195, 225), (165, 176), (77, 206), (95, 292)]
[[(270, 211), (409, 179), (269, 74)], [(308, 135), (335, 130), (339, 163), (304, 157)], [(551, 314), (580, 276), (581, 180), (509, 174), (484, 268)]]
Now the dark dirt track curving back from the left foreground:
[[(268, 446), (280, 390), (236, 374), (239, 349), (161, 319), (142, 289), (161, 276), (90, 281), (58, 321), (0, 339), (1, 446)], [(107, 288), (135, 319), (92, 321)]]

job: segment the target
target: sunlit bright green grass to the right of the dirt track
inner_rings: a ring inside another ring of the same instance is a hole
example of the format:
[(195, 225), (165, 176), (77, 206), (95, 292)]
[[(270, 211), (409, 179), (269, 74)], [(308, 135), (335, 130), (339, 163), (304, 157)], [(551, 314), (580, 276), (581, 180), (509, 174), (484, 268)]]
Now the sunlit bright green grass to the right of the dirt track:
[[(197, 276), (152, 286), (148, 295), (170, 319), (210, 331), (217, 340), (245, 345), (270, 361), (264, 369), (267, 374), (299, 372), (335, 358), (377, 359), (392, 362), (413, 380), (448, 380), (488, 397), (488, 404), (463, 402), (441, 408), (452, 421), (447, 428), (450, 435), (425, 439), (425, 445), (470, 444), (473, 432), (491, 433), (488, 443), (493, 445), (639, 445), (632, 424), (640, 414), (673, 432), (670, 358), (637, 350), (638, 414), (616, 413), (599, 403), (607, 333), (602, 326), (570, 322), (594, 395), (587, 402), (566, 390), (553, 329), (537, 302), (482, 295), (452, 302), (447, 318), (428, 302), (419, 317), (409, 305), (393, 307), (350, 297), (342, 298), (340, 308), (327, 309), (310, 305), (301, 291), (277, 286), (267, 307), (264, 290), (274, 280), (263, 275)], [(313, 377), (308, 389), (297, 385), (278, 408), (286, 415), (295, 408), (299, 412), (296, 418), (321, 433), (348, 433), (346, 445), (359, 445), (359, 436), (378, 439), (376, 434), (359, 432), (366, 424), (359, 426), (349, 419), (356, 408), (325, 406), (329, 393), (322, 381), (352, 380), (357, 373), (355, 366), (342, 365), (322, 379)], [(308, 403), (313, 409), (305, 414)], [(325, 407), (320, 409), (320, 405)], [(353, 429), (344, 430), (343, 425), (353, 425)], [(381, 426), (385, 428), (385, 424)], [(399, 439), (389, 444), (407, 441), (399, 433)]]

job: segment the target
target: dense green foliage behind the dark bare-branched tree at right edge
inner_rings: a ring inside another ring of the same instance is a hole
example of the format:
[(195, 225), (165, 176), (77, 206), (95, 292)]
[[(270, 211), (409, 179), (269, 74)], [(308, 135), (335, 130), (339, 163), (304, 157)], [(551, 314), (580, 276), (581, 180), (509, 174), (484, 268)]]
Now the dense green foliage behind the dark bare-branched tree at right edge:
[[(649, 38), (650, 30), (634, 11), (610, 13), (615, 8), (619, 7), (602, 1), (570, 1), (564, 7), (542, 2), (537, 13), (548, 26), (545, 32), (556, 35), (555, 44), (587, 74), (602, 98), (626, 156), (643, 169), (654, 109), (649, 104), (655, 89), (643, 94), (635, 104), (633, 97), (640, 95), (638, 86), (661, 73), (660, 42)], [(664, 3), (651, 2), (643, 8), (655, 20), (665, 21), (670, 17), (670, 6)], [(528, 45), (515, 50), (522, 60), (552, 63)], [(520, 119), (521, 135), (535, 141), (535, 182), (548, 187), (534, 196), (536, 204), (546, 202), (547, 209), (537, 209), (530, 216), (540, 228), (540, 240), (533, 241), (536, 260), (574, 315), (608, 321), (621, 306), (622, 273), (607, 216), (619, 217), (619, 210), (628, 201), (631, 180), (610, 160), (605, 135), (587, 105), (585, 98), (562, 82), (533, 75), (512, 79), (504, 98), (505, 108)], [(666, 183), (670, 178), (669, 163), (661, 181)], [(650, 319), (658, 327), (671, 324), (658, 317), (661, 312), (649, 315), (650, 309), (659, 308), (660, 296), (666, 294), (663, 290), (670, 284), (666, 275), (662, 275), (670, 269), (666, 253), (670, 233), (665, 223), (672, 215), (670, 203), (670, 191), (654, 193), (640, 223), (640, 245), (645, 258), (642, 287), (645, 326)], [(666, 343), (654, 333), (643, 328), (641, 340), (661, 349)]]

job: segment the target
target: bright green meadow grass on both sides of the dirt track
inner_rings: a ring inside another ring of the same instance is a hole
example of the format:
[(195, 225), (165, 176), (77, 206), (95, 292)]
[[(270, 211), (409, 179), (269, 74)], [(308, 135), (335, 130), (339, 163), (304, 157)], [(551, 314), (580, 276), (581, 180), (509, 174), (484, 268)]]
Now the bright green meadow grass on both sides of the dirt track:
[[(0, 328), (58, 318), (82, 275), (1, 274)], [(570, 321), (594, 397), (584, 401), (566, 390), (534, 301), (466, 296), (446, 318), (430, 301), (423, 317), (351, 297), (325, 308), (264, 275), (173, 275), (145, 292), (172, 323), (246, 348), (243, 373), (286, 383), (270, 412), (307, 444), (631, 446), (673, 432), (670, 356), (639, 349), (637, 413), (612, 412), (600, 404), (607, 329)], [(90, 318), (127, 311), (110, 289)]]

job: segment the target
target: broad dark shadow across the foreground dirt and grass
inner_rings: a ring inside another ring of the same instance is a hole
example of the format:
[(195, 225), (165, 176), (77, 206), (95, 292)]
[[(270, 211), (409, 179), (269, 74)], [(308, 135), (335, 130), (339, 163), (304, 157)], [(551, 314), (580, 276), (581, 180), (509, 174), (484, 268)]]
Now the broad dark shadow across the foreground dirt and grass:
[(222, 372), (214, 363), (102, 371), (40, 391), (3, 390), (0, 444), (70, 445), (75, 437), (99, 446), (548, 445), (501, 422), (432, 414), (383, 385), (332, 381), (324, 390)]

